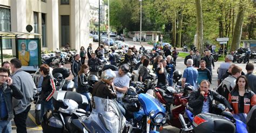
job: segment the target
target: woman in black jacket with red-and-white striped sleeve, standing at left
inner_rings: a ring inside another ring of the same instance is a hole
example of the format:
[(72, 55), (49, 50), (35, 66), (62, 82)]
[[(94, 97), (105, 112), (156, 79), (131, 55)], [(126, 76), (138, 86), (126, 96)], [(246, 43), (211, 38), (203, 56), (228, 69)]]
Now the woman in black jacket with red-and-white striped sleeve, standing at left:
[(52, 95), (56, 91), (55, 83), (53, 77), (49, 74), (50, 68), (47, 64), (41, 65), (39, 68), (40, 74), (44, 77), (42, 83), (42, 91), (40, 94), (41, 99), (41, 115), (40, 118), (43, 118), (44, 113), (48, 109), (53, 109), (52, 105)]

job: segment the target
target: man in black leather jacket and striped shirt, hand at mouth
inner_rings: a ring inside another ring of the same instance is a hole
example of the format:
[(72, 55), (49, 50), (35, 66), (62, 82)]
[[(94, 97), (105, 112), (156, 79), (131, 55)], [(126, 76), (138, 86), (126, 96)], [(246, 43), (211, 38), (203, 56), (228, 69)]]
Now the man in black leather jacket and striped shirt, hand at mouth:
[(200, 83), (200, 87), (198, 88), (197, 92), (192, 92), (190, 94), (188, 106), (193, 108), (192, 113), (194, 116), (203, 112), (212, 113), (213, 100), (217, 100), (221, 104), (224, 104), (227, 107), (227, 110), (233, 110), (227, 99), (217, 92), (210, 90), (210, 83), (208, 83), (207, 80), (203, 80)]

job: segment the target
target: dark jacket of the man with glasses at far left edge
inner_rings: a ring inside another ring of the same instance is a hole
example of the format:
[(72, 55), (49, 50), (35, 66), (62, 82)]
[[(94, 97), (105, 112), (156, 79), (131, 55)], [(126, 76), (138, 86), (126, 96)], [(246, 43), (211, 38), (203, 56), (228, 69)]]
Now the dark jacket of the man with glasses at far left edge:
[[(16, 99), (23, 99), (23, 94), (20, 90), (18, 90), (14, 85), (8, 86), (8, 84), (3, 84), (0, 89), (3, 89), (3, 97), (5, 100), (5, 105), (8, 113), (8, 121), (14, 118), (14, 109), (12, 106), (12, 97)], [(0, 103), (2, 95), (0, 95)], [(0, 107), (1, 108), (1, 107)]]

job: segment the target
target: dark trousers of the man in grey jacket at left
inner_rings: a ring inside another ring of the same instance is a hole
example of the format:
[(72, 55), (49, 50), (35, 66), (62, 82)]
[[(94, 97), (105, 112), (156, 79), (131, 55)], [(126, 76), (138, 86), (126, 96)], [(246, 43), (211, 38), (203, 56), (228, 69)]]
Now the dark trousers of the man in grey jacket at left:
[(14, 112), (14, 122), (17, 127), (17, 133), (26, 133), (26, 119), (28, 118), (30, 107), (31, 105), (19, 114), (15, 114)]

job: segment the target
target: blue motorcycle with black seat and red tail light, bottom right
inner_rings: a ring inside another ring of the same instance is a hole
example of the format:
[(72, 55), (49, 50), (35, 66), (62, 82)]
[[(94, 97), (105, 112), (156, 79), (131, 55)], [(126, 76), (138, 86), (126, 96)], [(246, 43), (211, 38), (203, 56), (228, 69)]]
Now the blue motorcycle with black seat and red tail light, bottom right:
[[(236, 132), (247, 133), (246, 124), (233, 117), (230, 112), (223, 111), (220, 115), (200, 113), (193, 115), (191, 107), (186, 107), (184, 116), (179, 114), (183, 125), (180, 132)], [(186, 118), (187, 122), (185, 121)]]

